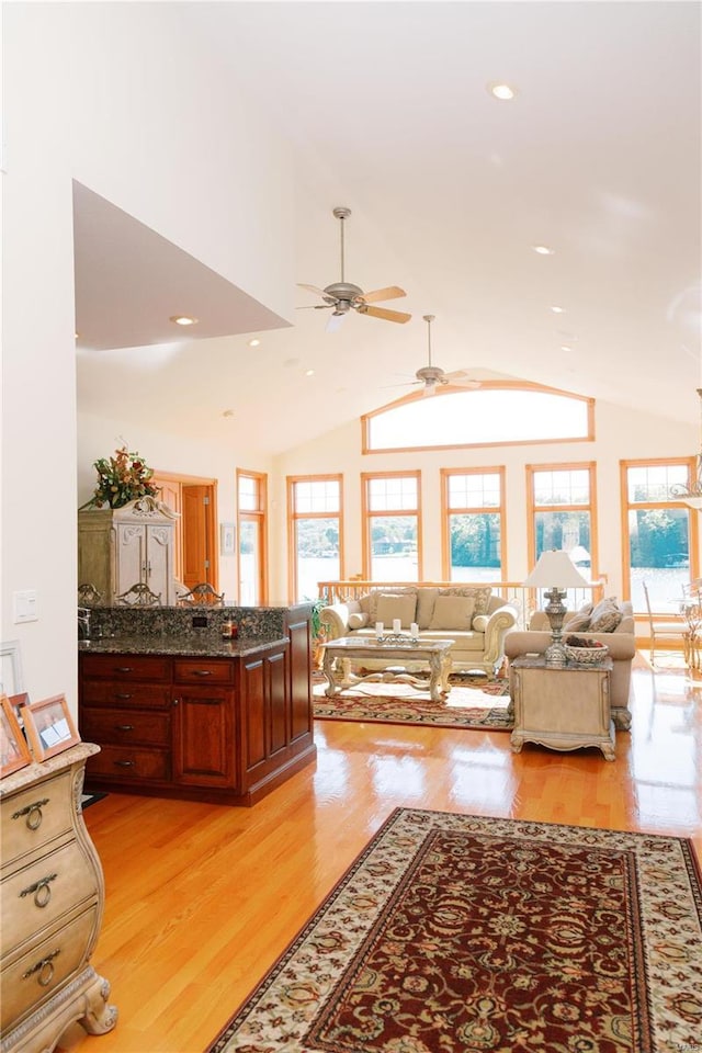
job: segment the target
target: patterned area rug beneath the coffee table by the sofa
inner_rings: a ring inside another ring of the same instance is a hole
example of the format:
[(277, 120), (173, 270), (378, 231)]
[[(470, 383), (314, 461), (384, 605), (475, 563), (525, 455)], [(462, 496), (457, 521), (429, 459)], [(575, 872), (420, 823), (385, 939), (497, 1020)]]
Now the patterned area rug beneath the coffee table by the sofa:
[[(333, 699), (325, 694), (326, 680), (313, 688), (315, 720), (363, 721), (381, 724), (432, 724), (509, 732), (509, 682), (479, 677), (452, 677), (445, 702), (432, 702), (428, 692), (407, 684), (365, 681)], [(392, 694), (389, 693), (392, 691)]]

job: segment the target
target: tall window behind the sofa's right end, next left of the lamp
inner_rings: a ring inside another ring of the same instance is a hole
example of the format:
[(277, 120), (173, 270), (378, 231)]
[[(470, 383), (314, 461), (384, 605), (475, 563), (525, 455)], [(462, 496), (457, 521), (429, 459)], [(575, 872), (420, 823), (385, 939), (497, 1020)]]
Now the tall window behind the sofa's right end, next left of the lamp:
[(442, 468), (443, 576), (506, 579), (505, 468)]

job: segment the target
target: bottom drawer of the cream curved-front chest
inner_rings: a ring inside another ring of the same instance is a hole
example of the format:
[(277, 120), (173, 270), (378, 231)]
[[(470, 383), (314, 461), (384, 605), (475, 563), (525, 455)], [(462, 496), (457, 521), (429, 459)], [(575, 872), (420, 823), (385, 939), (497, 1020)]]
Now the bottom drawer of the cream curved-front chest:
[(94, 905), (3, 967), (0, 980), (3, 1032), (23, 1015), (36, 1010), (81, 966), (97, 926), (98, 906)]

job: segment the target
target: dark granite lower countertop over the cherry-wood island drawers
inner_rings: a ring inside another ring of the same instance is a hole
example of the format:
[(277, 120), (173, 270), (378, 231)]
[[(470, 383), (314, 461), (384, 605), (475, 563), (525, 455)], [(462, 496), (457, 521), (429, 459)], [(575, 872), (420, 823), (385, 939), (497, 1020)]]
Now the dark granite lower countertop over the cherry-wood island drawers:
[(242, 658), (290, 642), (288, 636), (251, 636), (223, 639), (219, 636), (98, 636), (78, 641), (83, 655), (182, 655), (185, 657)]

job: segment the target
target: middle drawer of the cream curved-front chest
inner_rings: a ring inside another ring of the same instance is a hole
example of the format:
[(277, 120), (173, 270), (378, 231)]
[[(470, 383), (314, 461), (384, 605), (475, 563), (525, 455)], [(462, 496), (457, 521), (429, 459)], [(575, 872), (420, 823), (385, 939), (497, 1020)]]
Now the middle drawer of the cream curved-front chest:
[(94, 868), (86, 861), (78, 841), (18, 870), (2, 882), (3, 958), (97, 895)]

